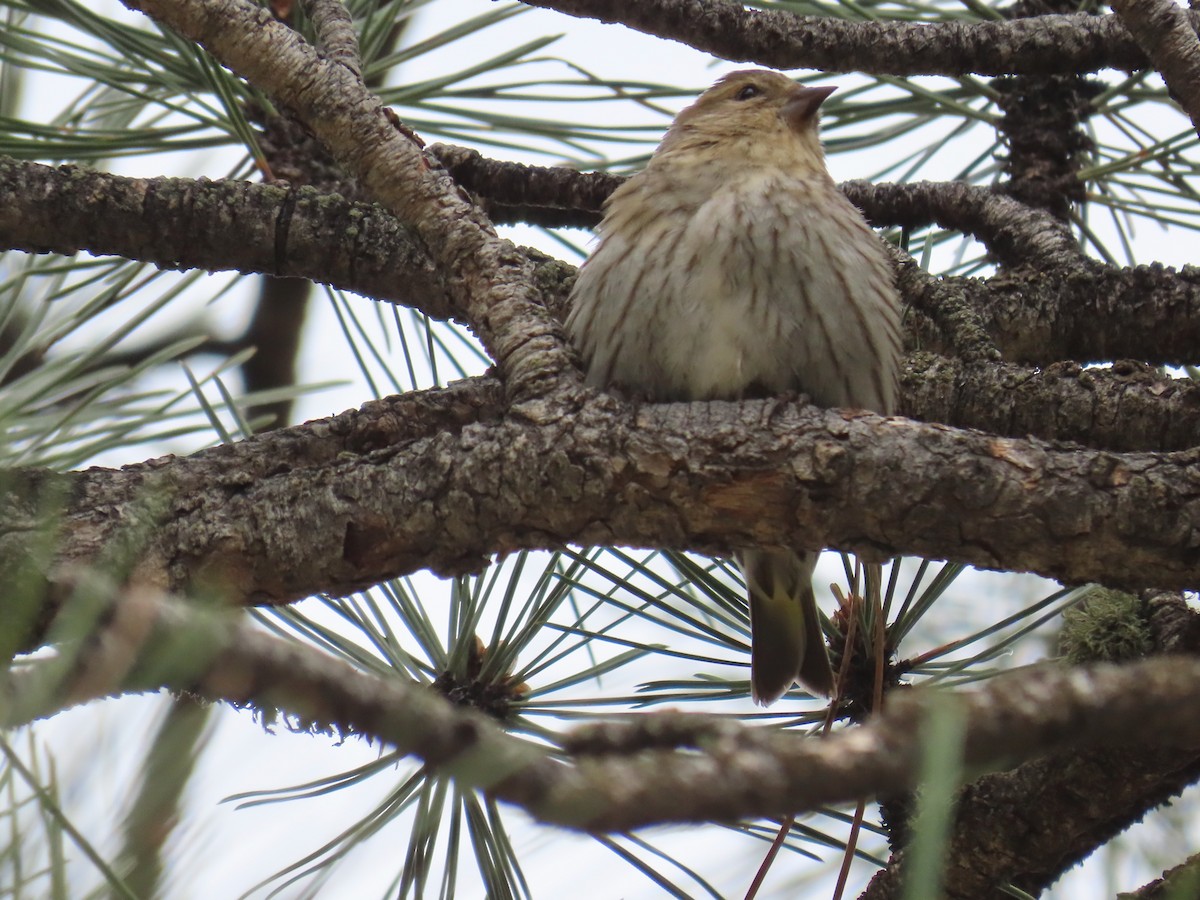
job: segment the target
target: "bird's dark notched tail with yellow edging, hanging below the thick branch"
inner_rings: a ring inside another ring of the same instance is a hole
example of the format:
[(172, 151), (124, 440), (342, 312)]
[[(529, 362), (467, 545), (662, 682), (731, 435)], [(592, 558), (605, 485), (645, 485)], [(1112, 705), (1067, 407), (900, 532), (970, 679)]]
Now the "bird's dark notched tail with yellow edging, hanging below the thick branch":
[(750, 690), (756, 703), (779, 700), (799, 680), (833, 691), (833, 670), (812, 595), (816, 553), (751, 550), (738, 558), (750, 599)]

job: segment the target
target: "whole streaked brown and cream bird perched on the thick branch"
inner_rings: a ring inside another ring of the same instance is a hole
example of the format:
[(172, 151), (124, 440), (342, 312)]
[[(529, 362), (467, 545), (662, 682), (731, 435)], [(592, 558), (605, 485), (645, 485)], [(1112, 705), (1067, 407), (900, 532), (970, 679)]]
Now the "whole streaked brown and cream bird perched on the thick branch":
[[(732, 72), (608, 197), (566, 318), (588, 385), (653, 402), (804, 394), (895, 412), (901, 305), (883, 240), (826, 167), (820, 108), (834, 90)], [(818, 556), (737, 553), (762, 706), (796, 682), (833, 691)]]

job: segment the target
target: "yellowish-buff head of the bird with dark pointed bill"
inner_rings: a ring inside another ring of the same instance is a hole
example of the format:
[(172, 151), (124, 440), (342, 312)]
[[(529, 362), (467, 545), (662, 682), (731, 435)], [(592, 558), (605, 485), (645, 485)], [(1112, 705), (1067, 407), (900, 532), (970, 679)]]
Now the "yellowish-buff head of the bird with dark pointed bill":
[(719, 155), (824, 172), (818, 110), (834, 90), (766, 68), (731, 72), (676, 116), (655, 156)]

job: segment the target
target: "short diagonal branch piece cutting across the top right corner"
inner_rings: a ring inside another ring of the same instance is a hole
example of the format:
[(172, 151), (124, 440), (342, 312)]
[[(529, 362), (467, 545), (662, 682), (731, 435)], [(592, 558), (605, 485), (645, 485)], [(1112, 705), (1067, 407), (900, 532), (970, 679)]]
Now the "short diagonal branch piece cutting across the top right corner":
[(1200, 132), (1200, 43), (1187, 10), (1171, 0), (1112, 0), (1112, 10)]

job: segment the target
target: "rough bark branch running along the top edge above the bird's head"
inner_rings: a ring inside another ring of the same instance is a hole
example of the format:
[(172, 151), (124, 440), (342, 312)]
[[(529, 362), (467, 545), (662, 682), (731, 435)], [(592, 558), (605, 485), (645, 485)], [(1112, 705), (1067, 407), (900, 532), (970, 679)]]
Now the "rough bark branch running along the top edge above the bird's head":
[(1115, 16), (1010, 22), (850, 22), (748, 10), (733, 0), (526, 0), (619, 23), (722, 59), (866, 74), (1133, 72), (1146, 56)]

